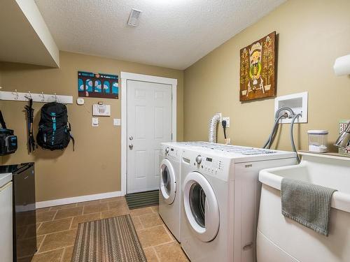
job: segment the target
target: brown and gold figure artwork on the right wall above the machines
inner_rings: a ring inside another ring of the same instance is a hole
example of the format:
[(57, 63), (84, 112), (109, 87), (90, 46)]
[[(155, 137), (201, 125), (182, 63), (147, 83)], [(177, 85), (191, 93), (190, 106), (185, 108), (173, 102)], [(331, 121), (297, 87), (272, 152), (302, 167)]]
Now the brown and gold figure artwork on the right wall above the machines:
[(276, 95), (276, 32), (239, 52), (239, 101)]

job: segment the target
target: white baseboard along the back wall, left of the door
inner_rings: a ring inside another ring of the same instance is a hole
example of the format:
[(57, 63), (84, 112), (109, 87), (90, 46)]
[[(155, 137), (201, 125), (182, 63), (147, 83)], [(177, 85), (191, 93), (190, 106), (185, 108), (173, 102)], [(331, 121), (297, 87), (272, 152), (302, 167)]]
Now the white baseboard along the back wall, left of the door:
[(122, 191), (114, 191), (114, 192), (108, 192), (108, 193), (102, 193), (102, 194), (74, 196), (72, 198), (60, 198), (60, 199), (54, 199), (49, 201), (41, 201), (41, 202), (36, 202), (36, 208), (48, 208), (48, 207), (53, 207), (55, 205), (66, 205), (71, 203), (93, 201), (93, 200), (104, 199), (104, 198), (114, 198), (116, 196), (123, 196)]

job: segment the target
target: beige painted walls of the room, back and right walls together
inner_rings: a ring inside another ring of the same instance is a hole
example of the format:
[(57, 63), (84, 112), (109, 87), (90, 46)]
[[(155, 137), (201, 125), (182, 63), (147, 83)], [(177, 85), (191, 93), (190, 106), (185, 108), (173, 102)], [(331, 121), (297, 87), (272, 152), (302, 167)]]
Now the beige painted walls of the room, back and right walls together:
[[(78, 70), (177, 78), (178, 140), (207, 140), (209, 118), (214, 112), (222, 112), (231, 118), (228, 136), (233, 143), (260, 146), (272, 128), (274, 99), (239, 102), (239, 50), (276, 31), (277, 96), (309, 92), (309, 122), (295, 126), (297, 145), (306, 149), (308, 129), (328, 129), (332, 143), (337, 137), (338, 120), (350, 118), (350, 78), (336, 77), (332, 71), (335, 58), (350, 53), (349, 9), (347, 0), (289, 0), (184, 74), (169, 68), (61, 52), (58, 69), (0, 63), (0, 84), (3, 90), (57, 92), (72, 95), (75, 100)], [(101, 100), (111, 103), (112, 116), (99, 117), (99, 127), (92, 128), (89, 111), (92, 103)], [(34, 103), (36, 126), (41, 105)], [(37, 201), (120, 190), (120, 127), (112, 126), (112, 119), (120, 117), (120, 100), (85, 99), (85, 106), (68, 105), (75, 152), (69, 145), (64, 152), (38, 149), (28, 154), (24, 106), (24, 102), (0, 102), (8, 127), (15, 129), (20, 139), (18, 152), (0, 158), (0, 163), (36, 162)], [(283, 125), (274, 147), (290, 150), (288, 127)], [(223, 142), (222, 129), (219, 142)]]

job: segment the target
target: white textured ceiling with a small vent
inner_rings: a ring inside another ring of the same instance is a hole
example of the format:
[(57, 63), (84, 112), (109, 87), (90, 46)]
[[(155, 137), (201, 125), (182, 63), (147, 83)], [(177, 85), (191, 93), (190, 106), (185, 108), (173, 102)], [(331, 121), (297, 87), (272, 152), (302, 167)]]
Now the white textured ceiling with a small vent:
[[(59, 50), (184, 69), (285, 0), (36, 0)], [(131, 8), (139, 27), (127, 25)]]

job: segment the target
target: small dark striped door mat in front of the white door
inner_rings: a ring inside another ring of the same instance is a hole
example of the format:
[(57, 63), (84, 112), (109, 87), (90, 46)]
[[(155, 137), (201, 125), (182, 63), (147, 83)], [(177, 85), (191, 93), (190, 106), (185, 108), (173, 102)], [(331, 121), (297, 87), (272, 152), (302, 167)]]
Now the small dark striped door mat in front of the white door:
[(130, 209), (144, 208), (159, 204), (159, 190), (132, 193), (125, 195)]

